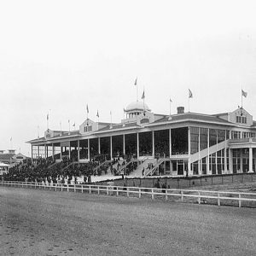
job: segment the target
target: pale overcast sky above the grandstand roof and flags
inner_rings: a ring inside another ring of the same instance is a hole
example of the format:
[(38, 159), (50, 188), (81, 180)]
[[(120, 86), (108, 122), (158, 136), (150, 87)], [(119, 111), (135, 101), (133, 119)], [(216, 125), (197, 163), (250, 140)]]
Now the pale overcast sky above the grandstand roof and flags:
[[(256, 119), (255, 1), (1, 1), (0, 149), (89, 118), (120, 122), (145, 91), (154, 113)], [(39, 129), (38, 129), (39, 127)], [(73, 129), (73, 126), (72, 126)]]

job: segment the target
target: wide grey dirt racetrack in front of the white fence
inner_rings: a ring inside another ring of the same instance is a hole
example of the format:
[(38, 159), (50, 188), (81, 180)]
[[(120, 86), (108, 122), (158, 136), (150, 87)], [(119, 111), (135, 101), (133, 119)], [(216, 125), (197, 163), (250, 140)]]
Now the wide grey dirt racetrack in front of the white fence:
[(1, 255), (255, 255), (256, 210), (0, 187)]

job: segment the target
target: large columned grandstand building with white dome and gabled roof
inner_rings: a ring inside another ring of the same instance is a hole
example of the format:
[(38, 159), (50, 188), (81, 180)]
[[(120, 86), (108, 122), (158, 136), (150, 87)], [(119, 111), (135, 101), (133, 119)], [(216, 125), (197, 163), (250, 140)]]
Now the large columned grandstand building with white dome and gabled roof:
[(44, 137), (27, 142), (32, 159), (86, 162), (105, 154), (137, 161), (134, 176), (255, 172), (256, 122), (244, 108), (204, 114), (179, 107), (166, 115), (132, 102), (124, 110), (126, 118), (119, 124), (85, 119), (78, 131), (48, 129)]

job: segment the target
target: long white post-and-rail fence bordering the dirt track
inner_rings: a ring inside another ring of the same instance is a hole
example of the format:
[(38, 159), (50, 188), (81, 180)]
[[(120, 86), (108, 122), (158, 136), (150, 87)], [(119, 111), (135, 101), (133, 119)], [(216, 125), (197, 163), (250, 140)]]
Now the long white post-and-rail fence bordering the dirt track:
[[(194, 189), (155, 189), (155, 188), (140, 188), (140, 187), (121, 187), (113, 185), (93, 185), (93, 184), (77, 184), (66, 185), (55, 183), (53, 185), (46, 185), (45, 183), (24, 183), (14, 181), (2, 181), (0, 185), (7, 187), (19, 187), (19, 188), (32, 188), (32, 189), (49, 189), (55, 191), (67, 191), (67, 192), (89, 192), (89, 194), (102, 193), (105, 195), (131, 195), (142, 198), (143, 195), (149, 195), (152, 200), (160, 198), (168, 200), (178, 199), (185, 202), (186, 199), (189, 202), (196, 202), (198, 204), (217, 204), (221, 205), (235, 205), (242, 207), (256, 207), (256, 193), (241, 193), (230, 191), (211, 191), (211, 190), (194, 190)], [(187, 200), (187, 202), (188, 202)], [(191, 201), (192, 200), (192, 201)], [(248, 204), (249, 203), (249, 204)]]

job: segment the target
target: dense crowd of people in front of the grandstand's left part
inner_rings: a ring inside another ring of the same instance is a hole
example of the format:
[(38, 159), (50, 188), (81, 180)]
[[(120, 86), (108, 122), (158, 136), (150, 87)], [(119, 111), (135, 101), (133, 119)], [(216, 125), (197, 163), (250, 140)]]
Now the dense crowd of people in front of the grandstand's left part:
[[(26, 159), (9, 168), (9, 172), (3, 174), (0, 179), (20, 182), (44, 182), (44, 183), (74, 183), (78, 177), (82, 177), (84, 183), (90, 183), (91, 176), (97, 175), (130, 175), (137, 169), (137, 161), (132, 161), (129, 156), (124, 159), (113, 158), (99, 154), (89, 162), (77, 162), (76, 155), (69, 159), (66, 155), (62, 160), (52, 157), (37, 160)], [(122, 171), (122, 172), (120, 172)], [(81, 179), (80, 179), (81, 180)]]

